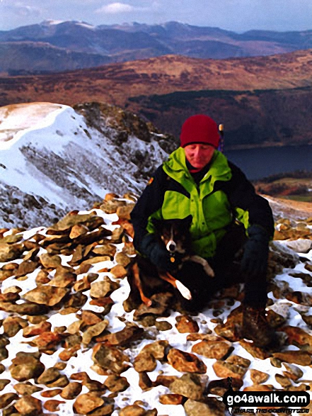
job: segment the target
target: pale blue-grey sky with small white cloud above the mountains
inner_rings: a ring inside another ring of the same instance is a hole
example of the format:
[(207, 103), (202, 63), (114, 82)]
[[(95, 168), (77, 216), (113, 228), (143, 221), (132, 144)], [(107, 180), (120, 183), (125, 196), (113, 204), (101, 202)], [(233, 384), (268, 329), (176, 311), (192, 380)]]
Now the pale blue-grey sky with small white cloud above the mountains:
[(0, 0), (0, 30), (45, 20), (180, 21), (243, 32), (312, 29), (312, 0)]

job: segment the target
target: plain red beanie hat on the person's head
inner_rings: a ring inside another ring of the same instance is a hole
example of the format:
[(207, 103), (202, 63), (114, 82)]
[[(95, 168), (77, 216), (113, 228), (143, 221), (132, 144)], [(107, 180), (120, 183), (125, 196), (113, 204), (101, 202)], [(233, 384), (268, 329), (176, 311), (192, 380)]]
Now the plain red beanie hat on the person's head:
[(181, 147), (192, 143), (204, 143), (217, 148), (219, 145), (219, 130), (216, 122), (204, 114), (197, 114), (183, 123), (180, 142)]

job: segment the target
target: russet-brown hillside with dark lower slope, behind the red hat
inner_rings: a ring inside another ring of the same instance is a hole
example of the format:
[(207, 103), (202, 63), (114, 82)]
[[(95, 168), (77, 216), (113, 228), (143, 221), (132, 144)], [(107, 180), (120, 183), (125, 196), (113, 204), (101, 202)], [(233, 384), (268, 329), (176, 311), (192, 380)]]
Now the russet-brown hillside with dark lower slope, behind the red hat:
[(197, 60), (166, 55), (74, 72), (0, 78), (0, 105), (112, 103), (178, 137), (204, 112), (224, 123), (229, 147), (312, 141), (312, 50), (267, 57)]

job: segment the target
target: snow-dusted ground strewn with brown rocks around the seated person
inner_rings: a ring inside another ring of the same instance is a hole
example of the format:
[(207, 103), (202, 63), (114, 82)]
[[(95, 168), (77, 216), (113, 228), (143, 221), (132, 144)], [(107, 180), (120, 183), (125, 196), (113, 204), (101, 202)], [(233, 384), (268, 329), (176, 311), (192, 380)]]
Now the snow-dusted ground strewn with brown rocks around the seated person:
[(312, 216), (275, 215), (267, 317), (280, 346), (267, 351), (241, 339), (240, 284), (195, 315), (171, 293), (129, 302), (133, 205), (108, 194), (51, 227), (0, 230), (2, 415), (221, 416), (228, 377), (234, 390), (311, 388)]

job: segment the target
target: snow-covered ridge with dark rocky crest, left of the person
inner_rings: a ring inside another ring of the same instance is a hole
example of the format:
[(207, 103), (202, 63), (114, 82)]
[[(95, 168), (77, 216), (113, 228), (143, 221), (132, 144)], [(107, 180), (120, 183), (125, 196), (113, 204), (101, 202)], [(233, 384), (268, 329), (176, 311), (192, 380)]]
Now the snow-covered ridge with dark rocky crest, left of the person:
[(0, 108), (0, 227), (54, 222), (108, 191), (139, 193), (171, 141), (105, 104)]

